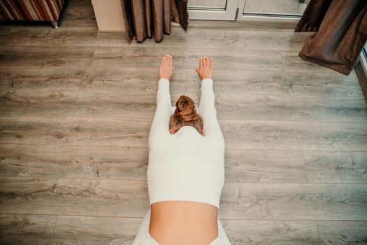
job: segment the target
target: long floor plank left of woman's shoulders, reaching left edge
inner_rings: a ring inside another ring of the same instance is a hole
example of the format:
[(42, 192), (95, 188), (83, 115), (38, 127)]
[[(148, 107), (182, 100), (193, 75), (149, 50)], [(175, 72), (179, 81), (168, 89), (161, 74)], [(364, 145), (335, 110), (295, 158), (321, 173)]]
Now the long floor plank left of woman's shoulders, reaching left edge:
[(0, 143), (146, 147), (151, 125), (152, 118), (8, 117), (0, 118)]

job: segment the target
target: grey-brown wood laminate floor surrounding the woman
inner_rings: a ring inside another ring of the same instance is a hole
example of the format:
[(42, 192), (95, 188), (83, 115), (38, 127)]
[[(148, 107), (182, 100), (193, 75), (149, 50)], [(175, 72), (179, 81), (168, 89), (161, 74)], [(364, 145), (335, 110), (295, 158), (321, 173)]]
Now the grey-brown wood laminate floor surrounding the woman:
[[(247, 28), (244, 28), (247, 27)], [(147, 137), (162, 55), (174, 103), (214, 57), (226, 143), (219, 216), (233, 245), (367, 244), (367, 106), (350, 76), (298, 57), (312, 33), (173, 25), (161, 43), (62, 25), (0, 25), (0, 244), (132, 244), (149, 202)]]

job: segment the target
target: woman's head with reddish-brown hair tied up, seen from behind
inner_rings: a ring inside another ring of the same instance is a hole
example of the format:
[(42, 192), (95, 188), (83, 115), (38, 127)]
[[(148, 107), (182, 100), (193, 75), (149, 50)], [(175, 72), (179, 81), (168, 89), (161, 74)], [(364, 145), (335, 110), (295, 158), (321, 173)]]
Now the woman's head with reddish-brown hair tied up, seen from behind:
[(203, 135), (203, 118), (197, 113), (194, 101), (186, 95), (181, 95), (176, 102), (175, 112), (169, 120), (169, 131), (175, 134), (183, 126), (192, 126)]

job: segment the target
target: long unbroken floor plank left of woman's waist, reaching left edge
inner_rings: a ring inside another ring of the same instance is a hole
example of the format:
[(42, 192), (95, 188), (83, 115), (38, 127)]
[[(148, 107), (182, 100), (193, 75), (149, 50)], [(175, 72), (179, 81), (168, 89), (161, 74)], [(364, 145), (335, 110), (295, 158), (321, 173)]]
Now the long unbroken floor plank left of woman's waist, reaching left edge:
[(149, 207), (146, 181), (2, 176), (0, 183), (3, 213), (143, 217)]

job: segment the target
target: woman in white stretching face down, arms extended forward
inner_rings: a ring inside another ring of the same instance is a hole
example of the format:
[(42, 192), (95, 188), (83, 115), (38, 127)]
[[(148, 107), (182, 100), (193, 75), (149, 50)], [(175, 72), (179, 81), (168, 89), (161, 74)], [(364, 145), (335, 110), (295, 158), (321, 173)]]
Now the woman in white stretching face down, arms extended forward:
[(173, 58), (159, 66), (157, 109), (148, 139), (150, 208), (133, 245), (230, 245), (218, 218), (224, 185), (224, 138), (213, 92), (213, 58), (201, 57), (199, 113), (182, 95), (169, 93)]

